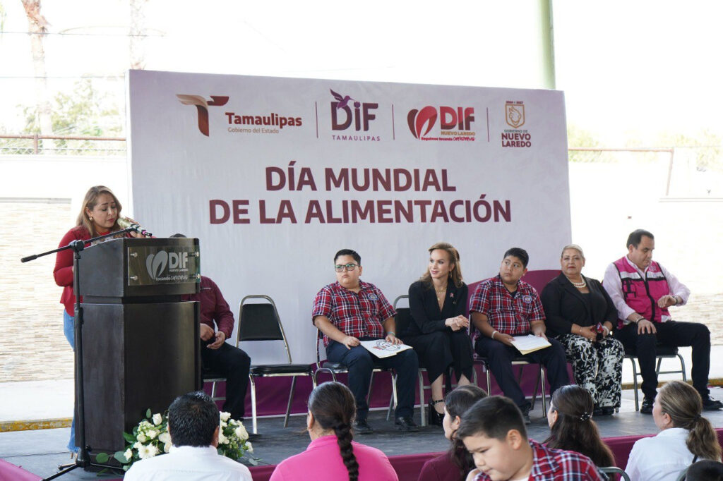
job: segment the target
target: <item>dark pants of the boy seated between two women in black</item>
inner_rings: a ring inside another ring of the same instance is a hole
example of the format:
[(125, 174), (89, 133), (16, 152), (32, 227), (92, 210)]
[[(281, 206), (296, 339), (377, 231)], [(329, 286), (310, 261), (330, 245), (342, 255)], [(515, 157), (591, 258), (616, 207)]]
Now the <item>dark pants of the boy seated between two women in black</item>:
[[(557, 339), (549, 338), (548, 340), (552, 346), (530, 352), (523, 358), (530, 363), (544, 365), (550, 384), (549, 392), (552, 394), (558, 388), (570, 384), (570, 378), (568, 377), (568, 363), (565, 360), (565, 348)], [(487, 358), (489, 371), (492, 371), (497, 385), (500, 386), (505, 396), (520, 407), (526, 406), (525, 395), (515, 381), (515, 375), (512, 372), (512, 361), (520, 357), (520, 352), (514, 347), (504, 345), (489, 337), (479, 337), (474, 345), (474, 350), (477, 354)]]

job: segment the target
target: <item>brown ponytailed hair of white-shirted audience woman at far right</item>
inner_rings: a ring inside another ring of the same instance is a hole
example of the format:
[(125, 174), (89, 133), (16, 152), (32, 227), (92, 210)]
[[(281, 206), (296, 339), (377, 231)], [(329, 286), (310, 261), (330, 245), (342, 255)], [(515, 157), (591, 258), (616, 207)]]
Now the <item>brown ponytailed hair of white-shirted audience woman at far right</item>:
[(688, 451), (701, 459), (721, 460), (718, 436), (711, 422), (701, 416), (703, 401), (693, 386), (683, 381), (670, 381), (660, 388), (656, 400), (675, 428), (688, 430), (685, 440)]

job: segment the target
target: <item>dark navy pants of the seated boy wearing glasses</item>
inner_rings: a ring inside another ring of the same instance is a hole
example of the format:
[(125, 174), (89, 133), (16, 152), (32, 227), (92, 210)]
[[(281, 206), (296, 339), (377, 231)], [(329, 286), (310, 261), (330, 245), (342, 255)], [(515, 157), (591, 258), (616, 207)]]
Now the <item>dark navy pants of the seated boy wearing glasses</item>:
[[(371, 340), (372, 338), (361, 338)], [(414, 414), (414, 384), (419, 369), (416, 353), (413, 349), (399, 352), (389, 358), (379, 359), (364, 347), (347, 349), (345, 345), (330, 341), (326, 347), (326, 358), (332, 363), (343, 363), (349, 369), (348, 382), (351, 393), (356, 399), (356, 418), (366, 420), (369, 413), (367, 394), (372, 369), (375, 365), (393, 368), (397, 373), (397, 410), (395, 417), (412, 417)]]

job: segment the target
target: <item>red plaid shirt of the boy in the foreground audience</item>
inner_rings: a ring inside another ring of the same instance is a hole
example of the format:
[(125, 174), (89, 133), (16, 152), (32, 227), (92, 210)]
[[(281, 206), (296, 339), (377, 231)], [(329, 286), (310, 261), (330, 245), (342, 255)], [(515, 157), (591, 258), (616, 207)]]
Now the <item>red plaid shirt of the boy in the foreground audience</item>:
[[(574, 451), (549, 449), (530, 440), (532, 447), (532, 472), (529, 480), (534, 481), (603, 481), (605, 478), (587, 456)], [(474, 481), (490, 480), (483, 472)]]

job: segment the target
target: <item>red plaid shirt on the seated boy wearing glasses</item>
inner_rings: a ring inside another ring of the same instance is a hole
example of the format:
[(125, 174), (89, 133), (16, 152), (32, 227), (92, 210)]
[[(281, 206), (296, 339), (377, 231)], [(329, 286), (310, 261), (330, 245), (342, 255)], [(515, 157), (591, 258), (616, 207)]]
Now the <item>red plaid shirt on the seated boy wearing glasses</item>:
[[(316, 316), (326, 316), (347, 336), (384, 337), (382, 322), (395, 315), (394, 308), (375, 285), (360, 280), (359, 287), (359, 293), (338, 282), (322, 287), (314, 298), (312, 323)], [(324, 345), (329, 345), (326, 336)]]

